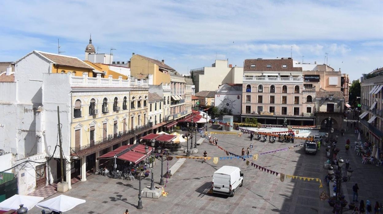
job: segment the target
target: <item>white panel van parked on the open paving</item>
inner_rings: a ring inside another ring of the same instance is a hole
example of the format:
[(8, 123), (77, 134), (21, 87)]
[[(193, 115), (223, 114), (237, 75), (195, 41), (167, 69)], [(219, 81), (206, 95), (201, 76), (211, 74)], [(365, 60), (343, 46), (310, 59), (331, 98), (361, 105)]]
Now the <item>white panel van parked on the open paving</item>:
[(243, 173), (238, 167), (223, 166), (214, 172), (213, 193), (234, 196), (236, 189), (243, 184)]

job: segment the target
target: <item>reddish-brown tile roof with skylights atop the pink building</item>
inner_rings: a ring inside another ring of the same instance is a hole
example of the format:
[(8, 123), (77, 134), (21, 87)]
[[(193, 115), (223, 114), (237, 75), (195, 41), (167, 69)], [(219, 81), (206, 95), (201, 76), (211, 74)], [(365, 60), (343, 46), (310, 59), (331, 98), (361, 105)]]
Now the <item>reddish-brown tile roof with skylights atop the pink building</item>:
[(293, 67), (293, 59), (245, 59), (243, 71), (302, 71), (302, 67)]

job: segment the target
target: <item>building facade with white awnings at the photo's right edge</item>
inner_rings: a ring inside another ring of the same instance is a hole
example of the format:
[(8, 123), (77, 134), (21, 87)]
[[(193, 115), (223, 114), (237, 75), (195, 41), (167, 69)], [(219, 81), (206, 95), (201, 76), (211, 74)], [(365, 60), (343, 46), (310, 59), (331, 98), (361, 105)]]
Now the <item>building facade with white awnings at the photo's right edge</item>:
[(360, 101), (362, 114), (359, 127), (368, 140), (383, 149), (383, 68), (376, 69), (361, 78)]

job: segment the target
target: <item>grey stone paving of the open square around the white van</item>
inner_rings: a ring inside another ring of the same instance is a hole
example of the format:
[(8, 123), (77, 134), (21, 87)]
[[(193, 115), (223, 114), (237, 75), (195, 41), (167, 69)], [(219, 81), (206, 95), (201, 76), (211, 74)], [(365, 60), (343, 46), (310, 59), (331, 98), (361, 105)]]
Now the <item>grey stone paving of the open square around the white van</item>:
[[(214, 131), (210, 129), (209, 131)], [(249, 135), (241, 137), (234, 134), (214, 134), (218, 138), (218, 145), (225, 150), (235, 154), (241, 154), (241, 149), (250, 145)], [(347, 201), (352, 200), (352, 185), (358, 183), (360, 187), (359, 200), (370, 199), (383, 202), (382, 187), (380, 179), (383, 178), (382, 166), (362, 164), (360, 156), (356, 156), (354, 147), (349, 154), (344, 152), (344, 142), (349, 138), (352, 142), (356, 139), (354, 132), (346, 132), (345, 136), (339, 137), (338, 147), (341, 149), (339, 157), (349, 157), (350, 167), (354, 169), (350, 182), (343, 183), (342, 187)], [(197, 139), (198, 140), (198, 139)], [(253, 140), (254, 149), (251, 154), (267, 152), (271, 150), (283, 149), (292, 145), (297, 145), (303, 141), (295, 140), (294, 144), (275, 142), (259, 142)], [(352, 144), (353, 145), (353, 144)], [(208, 157), (226, 157), (223, 150), (215, 145), (203, 142), (198, 146), (198, 154), (201, 156), (206, 150)], [(175, 153), (174, 155), (183, 155)], [(290, 214), (310, 214), (331, 213), (326, 201), (319, 199), (319, 194), (323, 190), (329, 193), (329, 187), (324, 182), (327, 170), (323, 168), (326, 162), (325, 147), (316, 155), (304, 154), (303, 147), (294, 147), (287, 151), (273, 152), (270, 154), (259, 155), (257, 160), (250, 161), (266, 167), (275, 172), (288, 175), (298, 175), (310, 178), (321, 178), (323, 187), (319, 188), (319, 182), (303, 181), (285, 178), (280, 181), (280, 176), (270, 175), (260, 171), (250, 164), (236, 158), (232, 160), (219, 160), (213, 163), (213, 158), (206, 163), (201, 163), (199, 159), (186, 159), (185, 163), (177, 172), (168, 179), (165, 191), (167, 197), (161, 196), (159, 199), (142, 198), (143, 209), (136, 209), (138, 201), (138, 180), (126, 181), (106, 178), (101, 175), (90, 175), (87, 181), (79, 181), (72, 185), (72, 189), (65, 195), (85, 199), (85, 204), (80, 204), (74, 209), (65, 213), (75, 214), (106, 214), (123, 213), (129, 209), (129, 213), (290, 213)], [(169, 161), (169, 168), (177, 161), (176, 158)], [(206, 188), (211, 185), (214, 171), (223, 165), (237, 166), (244, 173), (244, 184), (240, 187), (234, 197), (211, 195), (206, 193)], [(164, 171), (166, 170), (164, 162)], [(160, 161), (154, 167), (154, 180), (159, 186), (160, 180)], [(151, 176), (142, 180), (143, 186), (150, 185)], [(55, 197), (56, 193), (49, 198)], [(48, 198), (48, 199), (49, 199)], [(40, 209), (34, 207), (29, 213), (41, 213)], [(349, 211), (350, 213), (350, 211)]]

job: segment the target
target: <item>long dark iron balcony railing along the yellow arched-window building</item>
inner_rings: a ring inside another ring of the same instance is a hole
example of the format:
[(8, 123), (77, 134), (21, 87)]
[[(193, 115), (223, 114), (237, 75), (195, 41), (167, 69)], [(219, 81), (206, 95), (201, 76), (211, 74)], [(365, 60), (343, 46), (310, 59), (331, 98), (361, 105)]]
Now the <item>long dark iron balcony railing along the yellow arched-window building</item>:
[(107, 138), (83, 145), (81, 147), (70, 147), (70, 156), (84, 157), (94, 152), (103, 150), (112, 145), (118, 144), (119, 142), (130, 139), (131, 137), (140, 134), (141, 132), (151, 130), (153, 123), (148, 123), (144, 126), (131, 129), (126, 132), (120, 132), (119, 134), (111, 134)]

